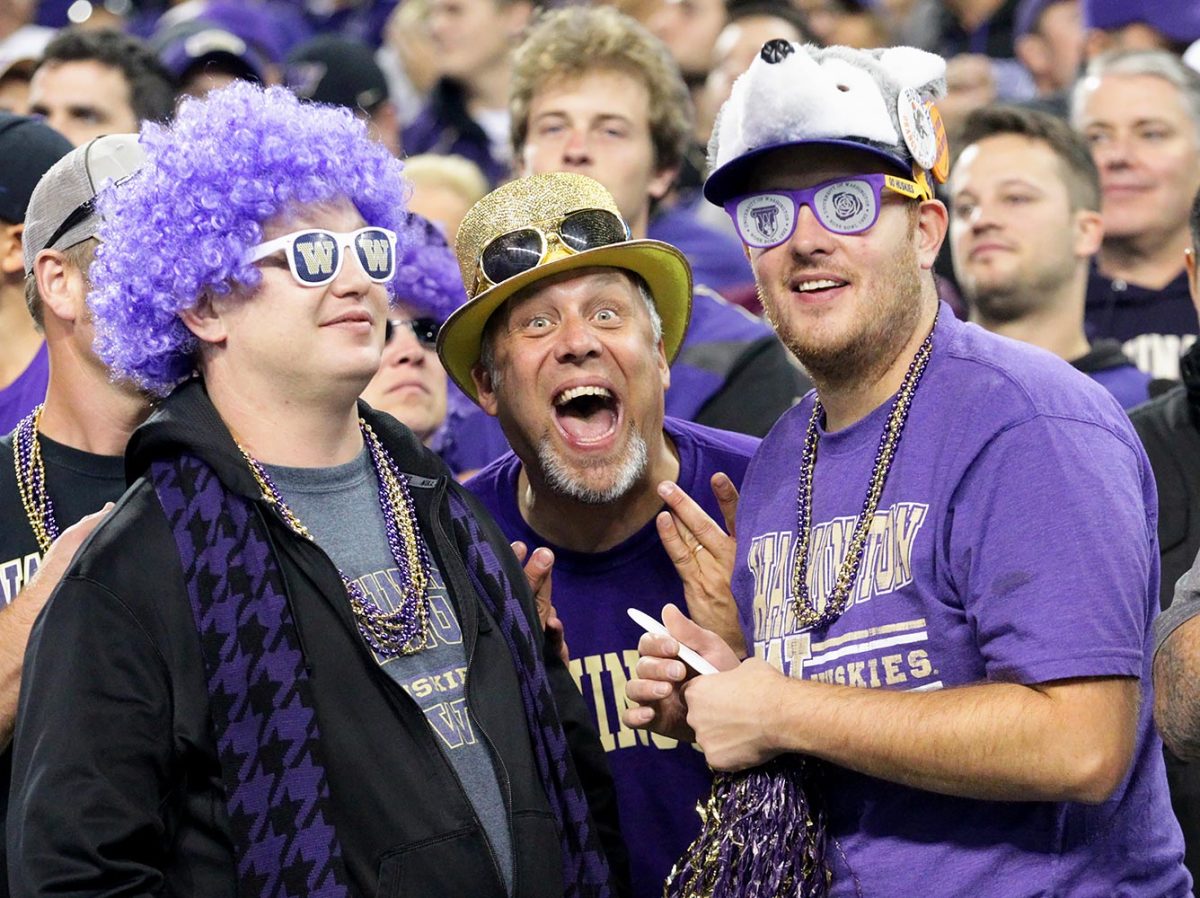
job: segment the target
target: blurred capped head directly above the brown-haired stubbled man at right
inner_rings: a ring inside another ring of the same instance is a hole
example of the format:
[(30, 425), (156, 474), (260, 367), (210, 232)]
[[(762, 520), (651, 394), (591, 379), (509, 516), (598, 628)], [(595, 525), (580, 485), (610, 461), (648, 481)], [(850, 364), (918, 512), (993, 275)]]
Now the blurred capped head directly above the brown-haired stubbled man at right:
[(1079, 0), (1021, 0), (1015, 35), (1016, 58), (1037, 91), (1030, 104), (1066, 119), (1068, 91), (1084, 61)]

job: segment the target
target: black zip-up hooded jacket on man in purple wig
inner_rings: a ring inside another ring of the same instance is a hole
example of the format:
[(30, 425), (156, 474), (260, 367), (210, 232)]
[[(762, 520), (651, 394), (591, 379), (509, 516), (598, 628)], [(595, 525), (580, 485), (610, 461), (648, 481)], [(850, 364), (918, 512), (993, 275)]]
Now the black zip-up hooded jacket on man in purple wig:
[[(462, 624), (467, 701), (509, 810), (516, 898), (562, 894), (554, 820), (536, 773), (516, 671), (475, 595), (446, 491), (478, 509), (508, 575), (536, 611), (499, 529), (445, 467), (388, 415), (361, 407), (410, 475), (422, 533)], [(76, 557), (38, 618), (22, 683), (8, 814), (13, 896), (236, 893), (200, 643), (179, 555), (149, 480), (186, 450), (258, 505), (308, 665), (334, 825), (358, 896), (505, 896), (484, 830), (416, 704), (359, 636), (329, 557), (269, 504), (203, 385), (172, 395), (130, 442), (132, 486)], [(547, 670), (576, 770), (616, 870), (625, 869), (611, 779), (582, 698)], [(619, 879), (619, 875), (618, 875)], [(618, 888), (624, 891), (624, 888)]]

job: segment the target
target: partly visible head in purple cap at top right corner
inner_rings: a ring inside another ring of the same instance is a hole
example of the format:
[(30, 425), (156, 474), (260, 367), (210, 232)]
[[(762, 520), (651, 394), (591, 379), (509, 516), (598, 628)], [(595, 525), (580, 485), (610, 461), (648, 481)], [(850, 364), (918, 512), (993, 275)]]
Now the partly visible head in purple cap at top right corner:
[(1169, 50), (1182, 55), (1200, 40), (1195, 0), (1082, 0), (1087, 59), (1115, 50)]

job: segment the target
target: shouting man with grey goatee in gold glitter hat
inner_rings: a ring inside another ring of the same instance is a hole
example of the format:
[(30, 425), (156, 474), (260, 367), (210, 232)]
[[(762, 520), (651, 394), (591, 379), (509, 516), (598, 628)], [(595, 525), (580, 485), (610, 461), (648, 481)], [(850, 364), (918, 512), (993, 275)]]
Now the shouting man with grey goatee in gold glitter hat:
[[(660, 485), (719, 516), (714, 485), (728, 498), (758, 441), (664, 419), (690, 269), (673, 246), (630, 239), (599, 182), (568, 173), (510, 181), (468, 212), (456, 249), (469, 300), (442, 329), (442, 358), (512, 445), (467, 486), (510, 540), (539, 547), (535, 569), (553, 562), (570, 669), (613, 771), (634, 894), (661, 894), (698, 830), (692, 807), (710, 777), (690, 746), (620, 723), (641, 633), (625, 612), (684, 604), (676, 564), (695, 567), (694, 544), (668, 515), (656, 531)], [(691, 610), (714, 627), (732, 619), (731, 605)]]

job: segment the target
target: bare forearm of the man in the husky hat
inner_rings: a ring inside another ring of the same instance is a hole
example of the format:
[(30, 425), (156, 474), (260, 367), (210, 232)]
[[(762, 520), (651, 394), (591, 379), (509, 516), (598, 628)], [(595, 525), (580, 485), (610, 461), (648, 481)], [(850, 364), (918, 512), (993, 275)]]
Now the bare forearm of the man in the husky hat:
[(929, 791), (1100, 802), (1133, 758), (1134, 680), (929, 693), (787, 682), (768, 724), (778, 748)]

